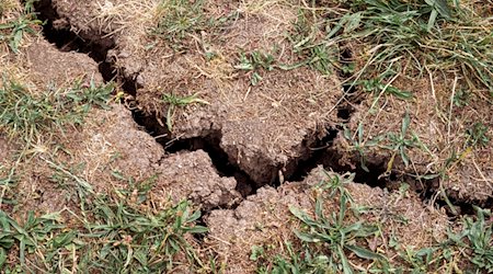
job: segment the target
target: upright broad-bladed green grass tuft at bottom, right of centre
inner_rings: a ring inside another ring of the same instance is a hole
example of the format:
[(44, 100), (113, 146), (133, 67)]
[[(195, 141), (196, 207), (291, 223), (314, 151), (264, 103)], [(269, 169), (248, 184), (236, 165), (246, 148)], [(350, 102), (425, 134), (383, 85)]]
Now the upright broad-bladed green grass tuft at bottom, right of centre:
[[(345, 184), (353, 179), (351, 174), (328, 174), (328, 180), (316, 186), (318, 196), (313, 217), (302, 209), (289, 207), (290, 213), (302, 224), (301, 229), (294, 232), (301, 241), (303, 251), (298, 253), (290, 243), (286, 243), (288, 256), (263, 259), (270, 264), (261, 264), (261, 273), (354, 273), (349, 256), (385, 261), (383, 255), (364, 247), (365, 239), (376, 236), (378, 229), (363, 220), (354, 220), (359, 216), (359, 210), (345, 189)], [(326, 201), (337, 201), (339, 209), (326, 212)], [(262, 249), (254, 251), (253, 259), (263, 256)]]

